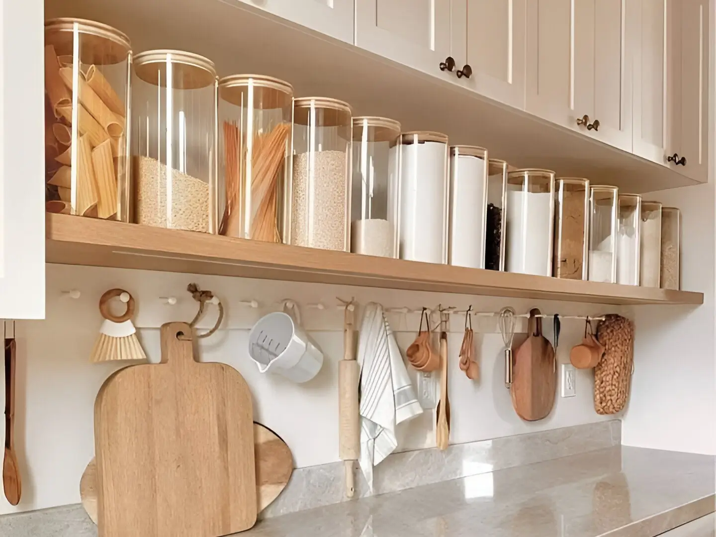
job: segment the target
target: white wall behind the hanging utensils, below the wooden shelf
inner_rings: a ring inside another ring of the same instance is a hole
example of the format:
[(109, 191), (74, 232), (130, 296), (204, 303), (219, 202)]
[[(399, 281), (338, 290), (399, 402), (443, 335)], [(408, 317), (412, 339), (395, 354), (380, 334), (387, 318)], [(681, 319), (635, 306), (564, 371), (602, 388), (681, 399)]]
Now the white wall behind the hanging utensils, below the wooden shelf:
[[(478, 311), (495, 311), (512, 305), (518, 312), (533, 306), (543, 313), (602, 314), (619, 312), (613, 306), (563, 304), (549, 301), (493, 299), (462, 295), (440, 295), (388, 289), (296, 284), (290, 282), (190, 276), (158, 272), (96, 269), (77, 266), (47, 266), (47, 319), (18, 323), (18, 374), (16, 448), (23, 478), (23, 499), (17, 508), (0, 498), (0, 514), (79, 502), (79, 478), (94, 453), (93, 404), (104, 379), (116, 364), (90, 364), (89, 352), (97, 337), (101, 318), (97, 302), (113, 287), (130, 291), (137, 299), (137, 326), (140, 339), (153, 362), (159, 359), (158, 326), (166, 321), (190, 320), (195, 302), (185, 291), (190, 281), (211, 289), (227, 306), (222, 330), (200, 342), (205, 361), (222, 361), (236, 367), (251, 387), (254, 418), (271, 427), (286, 440), (297, 466), (331, 463), (338, 458), (337, 361), (342, 358), (342, 312), (336, 297), (355, 296), (359, 304), (381, 301), (387, 307), (445, 306)], [(79, 289), (73, 300), (62, 291)], [(175, 306), (166, 306), (160, 296), (178, 296)], [(247, 329), (261, 314), (276, 309), (281, 299), (291, 298), (302, 307), (304, 325), (321, 345), (326, 360), (319, 375), (304, 385), (291, 384), (282, 377), (258, 373), (246, 352)], [(259, 309), (238, 304), (256, 299)], [(309, 309), (322, 302), (326, 309)], [(216, 319), (209, 311), (201, 326)], [(417, 331), (419, 315), (389, 314), (397, 331), (398, 344), (405, 349)], [(526, 324), (519, 326), (524, 332)], [(592, 405), (591, 372), (579, 372), (576, 397), (561, 399), (545, 420), (523, 422), (512, 409), (509, 390), (503, 385), (502, 337), (494, 319), (473, 323), (481, 332), (477, 357), (480, 382), (472, 382), (458, 368), (458, 350), (463, 336), (464, 316), (453, 316), (449, 337), (450, 407), (453, 415), (451, 442), (471, 442), (553, 429), (605, 419)], [(569, 349), (579, 342), (582, 321), (563, 321), (558, 360), (569, 361)], [(551, 338), (551, 323), (545, 332)], [(0, 373), (1, 374), (1, 373)], [(0, 384), (4, 386), (4, 384)], [(2, 388), (0, 387), (0, 390)], [(0, 399), (1, 400), (1, 399)], [(422, 417), (400, 430), (402, 449), (435, 445), (435, 415)], [(0, 435), (4, 434), (4, 430)]]

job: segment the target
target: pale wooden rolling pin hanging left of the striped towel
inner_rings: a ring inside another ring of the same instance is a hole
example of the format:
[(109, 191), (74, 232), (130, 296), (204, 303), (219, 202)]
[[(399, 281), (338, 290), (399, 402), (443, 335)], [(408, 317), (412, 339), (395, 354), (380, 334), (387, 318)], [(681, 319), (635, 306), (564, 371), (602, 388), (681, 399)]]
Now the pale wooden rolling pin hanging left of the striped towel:
[(360, 369), (355, 357), (354, 310), (346, 305), (343, 326), (343, 359), (338, 364), (339, 456), (346, 465), (346, 495), (353, 497), (354, 461), (360, 453), (360, 421), (358, 415), (358, 382)]

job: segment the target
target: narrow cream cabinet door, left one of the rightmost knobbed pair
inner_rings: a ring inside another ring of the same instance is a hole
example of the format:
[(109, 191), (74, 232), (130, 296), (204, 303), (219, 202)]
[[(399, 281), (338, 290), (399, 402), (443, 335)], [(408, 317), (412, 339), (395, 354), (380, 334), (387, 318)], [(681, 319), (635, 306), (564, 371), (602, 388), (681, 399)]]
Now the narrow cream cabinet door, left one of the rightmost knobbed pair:
[(666, 164), (666, 155), (674, 153), (672, 137), (674, 84), (679, 62), (669, 60), (674, 52), (671, 0), (634, 0), (634, 154)]

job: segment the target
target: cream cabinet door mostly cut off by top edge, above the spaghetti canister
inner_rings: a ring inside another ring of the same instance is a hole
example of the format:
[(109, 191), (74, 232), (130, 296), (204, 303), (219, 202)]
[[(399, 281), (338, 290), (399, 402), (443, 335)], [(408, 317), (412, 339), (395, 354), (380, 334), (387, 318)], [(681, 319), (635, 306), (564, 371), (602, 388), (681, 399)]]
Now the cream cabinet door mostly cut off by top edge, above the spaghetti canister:
[(353, 44), (353, 0), (239, 0)]

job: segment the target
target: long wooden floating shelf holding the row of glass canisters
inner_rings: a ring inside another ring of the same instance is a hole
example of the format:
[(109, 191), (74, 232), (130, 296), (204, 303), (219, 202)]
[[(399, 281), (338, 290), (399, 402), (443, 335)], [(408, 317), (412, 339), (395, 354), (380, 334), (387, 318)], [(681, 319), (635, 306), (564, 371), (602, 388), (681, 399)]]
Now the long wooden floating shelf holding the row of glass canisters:
[(360, 256), (48, 214), (47, 262), (593, 304), (703, 304), (704, 295)]

